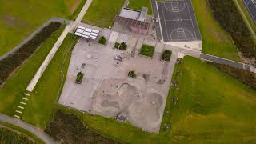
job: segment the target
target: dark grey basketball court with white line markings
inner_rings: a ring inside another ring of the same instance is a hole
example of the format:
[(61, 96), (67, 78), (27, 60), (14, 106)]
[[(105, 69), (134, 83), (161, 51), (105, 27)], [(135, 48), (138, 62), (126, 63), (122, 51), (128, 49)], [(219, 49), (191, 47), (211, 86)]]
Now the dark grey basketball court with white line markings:
[(201, 40), (190, 0), (157, 2), (163, 42)]

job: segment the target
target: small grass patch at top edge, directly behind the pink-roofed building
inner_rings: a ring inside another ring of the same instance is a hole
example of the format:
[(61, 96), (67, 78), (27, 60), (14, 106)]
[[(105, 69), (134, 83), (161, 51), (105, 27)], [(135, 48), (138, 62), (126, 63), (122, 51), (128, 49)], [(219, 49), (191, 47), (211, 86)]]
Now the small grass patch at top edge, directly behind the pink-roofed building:
[(150, 0), (130, 0), (128, 8), (134, 10), (142, 10), (142, 6), (148, 8), (148, 14), (152, 14), (152, 6)]

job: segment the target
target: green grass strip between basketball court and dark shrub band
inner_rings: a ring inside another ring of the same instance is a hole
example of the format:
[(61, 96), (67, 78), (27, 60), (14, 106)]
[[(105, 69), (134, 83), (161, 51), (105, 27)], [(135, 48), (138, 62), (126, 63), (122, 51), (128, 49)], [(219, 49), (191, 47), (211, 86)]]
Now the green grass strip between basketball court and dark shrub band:
[(194, 13), (202, 34), (202, 52), (241, 61), (230, 34), (214, 19), (206, 0), (192, 0)]

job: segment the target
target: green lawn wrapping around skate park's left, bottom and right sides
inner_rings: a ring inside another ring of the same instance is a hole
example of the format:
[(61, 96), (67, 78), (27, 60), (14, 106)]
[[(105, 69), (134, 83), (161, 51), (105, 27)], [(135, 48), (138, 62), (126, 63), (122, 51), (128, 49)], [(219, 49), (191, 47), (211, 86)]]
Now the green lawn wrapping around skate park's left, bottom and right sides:
[[(170, 110), (170, 114), (165, 114), (162, 121), (162, 126), (170, 123), (168, 133), (161, 129), (160, 134), (149, 134), (128, 122), (116, 122), (114, 118), (82, 114), (77, 110), (54, 105), (60, 90), (58, 86), (62, 86), (62, 75), (58, 74), (60, 66), (57, 65), (62, 62), (60, 59), (63, 58), (64, 51), (63, 49), (58, 52), (39, 82), (30, 100), (32, 104), (30, 103), (31, 106), (26, 110), (25, 121), (44, 128), (46, 123), (50, 122), (55, 108), (77, 114), (92, 130), (127, 143), (255, 141), (256, 90), (250, 89), (198, 58), (185, 57), (182, 64), (175, 67), (174, 75), (181, 72), (179, 77), (173, 78), (178, 81), (179, 89), (170, 89), (166, 103), (166, 109)], [(62, 56), (59, 57), (60, 55)], [(54, 73), (54, 76), (51, 73)], [(170, 101), (174, 96), (178, 98), (176, 104)]]

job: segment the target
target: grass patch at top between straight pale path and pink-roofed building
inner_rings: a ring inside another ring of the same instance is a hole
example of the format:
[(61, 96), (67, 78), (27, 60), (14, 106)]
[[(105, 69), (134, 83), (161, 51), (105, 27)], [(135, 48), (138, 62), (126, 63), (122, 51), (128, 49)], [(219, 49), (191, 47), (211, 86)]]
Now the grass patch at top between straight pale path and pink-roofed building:
[(94, 0), (82, 21), (90, 25), (108, 28), (114, 24), (114, 18), (124, 2), (124, 0)]

